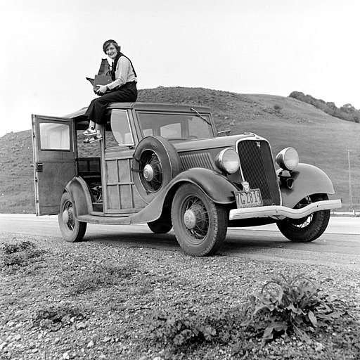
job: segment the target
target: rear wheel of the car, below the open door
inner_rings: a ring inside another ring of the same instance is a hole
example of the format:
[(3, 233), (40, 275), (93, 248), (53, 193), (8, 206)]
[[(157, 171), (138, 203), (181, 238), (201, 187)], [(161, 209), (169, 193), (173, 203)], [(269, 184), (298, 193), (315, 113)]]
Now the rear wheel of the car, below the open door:
[(68, 193), (63, 193), (61, 197), (58, 222), (63, 238), (69, 243), (75, 243), (84, 238), (87, 224), (75, 218), (74, 204)]

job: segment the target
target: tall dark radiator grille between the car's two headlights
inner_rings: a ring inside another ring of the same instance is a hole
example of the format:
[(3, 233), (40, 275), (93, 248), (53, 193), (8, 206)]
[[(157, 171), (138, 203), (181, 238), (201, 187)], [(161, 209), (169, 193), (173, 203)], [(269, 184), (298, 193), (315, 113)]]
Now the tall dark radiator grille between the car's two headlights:
[(269, 143), (264, 140), (238, 142), (240, 166), (250, 188), (259, 188), (264, 205), (280, 205), (274, 162)]

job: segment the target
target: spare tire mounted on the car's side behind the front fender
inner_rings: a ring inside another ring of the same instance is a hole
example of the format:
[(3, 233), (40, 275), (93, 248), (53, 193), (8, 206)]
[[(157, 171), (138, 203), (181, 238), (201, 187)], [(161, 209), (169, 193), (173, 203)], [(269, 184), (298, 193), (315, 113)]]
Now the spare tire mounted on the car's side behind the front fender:
[(179, 154), (162, 136), (147, 136), (136, 147), (132, 172), (141, 198), (150, 203), (181, 171)]

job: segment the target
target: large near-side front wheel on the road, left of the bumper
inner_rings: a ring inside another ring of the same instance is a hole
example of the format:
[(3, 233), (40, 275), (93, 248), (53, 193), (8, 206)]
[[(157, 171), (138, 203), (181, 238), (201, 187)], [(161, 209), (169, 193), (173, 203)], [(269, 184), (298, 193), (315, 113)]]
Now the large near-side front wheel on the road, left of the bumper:
[(213, 255), (224, 243), (228, 224), (224, 206), (215, 204), (193, 184), (179, 187), (172, 202), (176, 240), (188, 255)]

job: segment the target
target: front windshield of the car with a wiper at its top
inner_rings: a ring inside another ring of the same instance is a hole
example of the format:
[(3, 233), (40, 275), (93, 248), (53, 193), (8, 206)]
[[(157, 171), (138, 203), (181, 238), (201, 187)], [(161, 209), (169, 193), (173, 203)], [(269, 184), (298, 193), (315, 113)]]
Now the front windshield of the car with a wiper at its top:
[(201, 117), (207, 121), (194, 114), (138, 113), (143, 136), (162, 136), (168, 140), (214, 138), (210, 115)]

